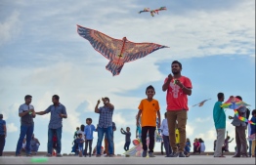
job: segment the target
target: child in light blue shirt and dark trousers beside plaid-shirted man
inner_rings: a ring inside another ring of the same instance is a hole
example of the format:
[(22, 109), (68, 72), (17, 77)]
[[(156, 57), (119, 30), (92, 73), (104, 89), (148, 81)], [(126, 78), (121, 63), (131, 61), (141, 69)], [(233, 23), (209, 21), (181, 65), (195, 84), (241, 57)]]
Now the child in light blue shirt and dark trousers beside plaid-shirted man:
[[(91, 157), (92, 155), (92, 144), (93, 144), (93, 132), (96, 131), (95, 126), (92, 124), (93, 120), (91, 118), (86, 119), (86, 126), (84, 128), (84, 136), (85, 136), (85, 150), (84, 150), (84, 156), (86, 157), (89, 155)], [(87, 148), (89, 145), (89, 154), (87, 154)]]

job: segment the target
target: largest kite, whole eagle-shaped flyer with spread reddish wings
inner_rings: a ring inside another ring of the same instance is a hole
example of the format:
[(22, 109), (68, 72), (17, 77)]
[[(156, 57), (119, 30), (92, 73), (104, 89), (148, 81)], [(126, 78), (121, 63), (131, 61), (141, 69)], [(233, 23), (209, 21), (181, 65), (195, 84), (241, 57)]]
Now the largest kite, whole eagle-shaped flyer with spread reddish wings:
[(113, 76), (121, 72), (125, 62), (144, 58), (161, 48), (169, 48), (154, 43), (134, 43), (126, 37), (123, 37), (122, 40), (114, 39), (100, 31), (81, 25), (77, 25), (77, 32), (81, 37), (87, 39), (96, 51), (110, 61), (107, 63), (106, 68)]

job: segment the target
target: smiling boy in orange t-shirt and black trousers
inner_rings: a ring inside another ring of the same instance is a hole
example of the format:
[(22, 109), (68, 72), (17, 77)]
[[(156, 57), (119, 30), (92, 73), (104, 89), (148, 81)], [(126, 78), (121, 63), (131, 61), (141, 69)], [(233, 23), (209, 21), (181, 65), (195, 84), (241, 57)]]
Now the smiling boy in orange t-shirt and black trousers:
[[(137, 125), (139, 125), (139, 118), (141, 116), (142, 126), (142, 143), (143, 143), (143, 157), (147, 156), (148, 145), (147, 145), (147, 134), (149, 132), (149, 157), (154, 157), (153, 146), (154, 146), (154, 132), (156, 128), (156, 113), (159, 121), (161, 121), (160, 106), (158, 101), (152, 99), (154, 96), (154, 88), (149, 85), (146, 89), (147, 99), (141, 101), (139, 105), (139, 112), (137, 115)], [(160, 122), (157, 125), (160, 128)]]

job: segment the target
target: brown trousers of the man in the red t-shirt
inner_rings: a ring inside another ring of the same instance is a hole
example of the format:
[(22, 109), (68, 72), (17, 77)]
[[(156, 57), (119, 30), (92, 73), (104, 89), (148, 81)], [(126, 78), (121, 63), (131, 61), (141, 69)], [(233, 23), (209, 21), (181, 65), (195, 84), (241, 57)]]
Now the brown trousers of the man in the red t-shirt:
[[(184, 152), (186, 145), (186, 125), (188, 119), (188, 112), (186, 109), (181, 110), (167, 110), (167, 122), (169, 129), (170, 144), (174, 152)], [(179, 148), (176, 146), (175, 128), (176, 121), (178, 121), (178, 130), (180, 133), (180, 145)]]

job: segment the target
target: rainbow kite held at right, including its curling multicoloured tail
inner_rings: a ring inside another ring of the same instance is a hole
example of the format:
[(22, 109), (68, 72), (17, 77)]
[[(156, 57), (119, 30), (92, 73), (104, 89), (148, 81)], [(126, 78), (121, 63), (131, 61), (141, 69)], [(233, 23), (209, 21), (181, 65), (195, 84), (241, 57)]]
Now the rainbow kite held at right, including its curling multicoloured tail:
[(248, 122), (248, 123), (250, 123), (250, 124), (252, 124), (252, 125), (256, 125), (256, 123), (253, 123), (252, 121), (250, 121), (250, 120), (248, 120), (247, 118), (245, 118), (245, 117), (243, 117), (243, 116), (240, 116), (240, 115), (238, 114), (238, 111), (237, 111), (236, 109), (239, 108), (239, 107), (241, 107), (241, 106), (250, 106), (250, 105), (247, 104), (247, 103), (242, 102), (241, 100), (235, 98), (234, 96), (231, 96), (227, 102), (225, 102), (225, 103), (223, 103), (223, 104), (221, 105), (221, 107), (223, 107), (223, 108), (231, 108), (231, 109), (234, 109), (235, 116), (236, 116), (239, 120), (244, 121), (244, 122)]

